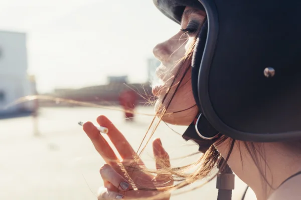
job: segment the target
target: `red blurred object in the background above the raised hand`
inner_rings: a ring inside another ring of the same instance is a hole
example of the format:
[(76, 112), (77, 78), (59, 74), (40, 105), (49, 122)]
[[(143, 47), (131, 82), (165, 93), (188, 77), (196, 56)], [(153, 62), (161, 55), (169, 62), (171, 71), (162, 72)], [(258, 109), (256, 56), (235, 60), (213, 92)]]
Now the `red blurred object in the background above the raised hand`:
[(134, 111), (136, 100), (137, 100), (137, 93), (135, 91), (130, 89), (125, 89), (120, 92), (119, 102), (120, 105), (123, 107), (123, 109), (125, 109), (124, 115), (126, 119), (130, 119), (134, 116), (132, 112)]

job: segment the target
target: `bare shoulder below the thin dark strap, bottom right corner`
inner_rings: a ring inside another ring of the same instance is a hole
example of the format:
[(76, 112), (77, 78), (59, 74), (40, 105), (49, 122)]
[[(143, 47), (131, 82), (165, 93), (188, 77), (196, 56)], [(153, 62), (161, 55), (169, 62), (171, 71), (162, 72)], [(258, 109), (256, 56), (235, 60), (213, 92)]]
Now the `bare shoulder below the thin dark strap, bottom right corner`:
[(281, 185), (277, 190), (275, 190), (268, 200), (299, 200), (301, 199), (301, 176), (291, 178), (283, 185)]

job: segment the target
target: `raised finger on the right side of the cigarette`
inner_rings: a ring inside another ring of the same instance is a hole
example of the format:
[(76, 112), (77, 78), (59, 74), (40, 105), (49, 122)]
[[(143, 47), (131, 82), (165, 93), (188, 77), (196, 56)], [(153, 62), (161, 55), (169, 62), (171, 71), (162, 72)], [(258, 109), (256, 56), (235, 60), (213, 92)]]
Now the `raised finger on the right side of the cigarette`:
[[(124, 135), (114, 126), (114, 124), (104, 115), (98, 116), (97, 122), (99, 125), (107, 127), (109, 129), (107, 135), (109, 136), (110, 140), (116, 147), (120, 156), (123, 159), (132, 159), (136, 154), (136, 152), (129, 144), (129, 142), (126, 140)], [(139, 163), (141, 163), (140, 159), (138, 161)]]

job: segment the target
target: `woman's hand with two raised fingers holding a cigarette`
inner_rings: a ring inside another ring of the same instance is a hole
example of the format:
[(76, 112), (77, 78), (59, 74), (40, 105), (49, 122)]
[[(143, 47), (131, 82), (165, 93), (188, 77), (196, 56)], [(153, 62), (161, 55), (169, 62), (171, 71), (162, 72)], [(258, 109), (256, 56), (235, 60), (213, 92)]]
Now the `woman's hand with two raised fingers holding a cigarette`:
[[(106, 164), (100, 168), (100, 175), (103, 179), (104, 186), (99, 189), (99, 200), (150, 197), (160, 193), (160, 191), (143, 190), (143, 187), (156, 188), (158, 185), (162, 187), (170, 186), (174, 183), (169, 175), (154, 176), (141, 172), (139, 168), (144, 166), (144, 163), (139, 157), (133, 159), (136, 152), (123, 134), (103, 115), (97, 117), (97, 122), (99, 125), (109, 129), (107, 135), (122, 157), (122, 160), (118, 160), (110, 145), (92, 122), (88, 121), (83, 124), (84, 131), (90, 137), (96, 150), (106, 162)], [(165, 164), (165, 166), (170, 167), (169, 155), (163, 148), (159, 138), (153, 142), (153, 151), (157, 169), (162, 167), (162, 160), (164, 160), (163, 164)], [(170, 196), (168, 195), (160, 199), (167, 200), (169, 198)]]

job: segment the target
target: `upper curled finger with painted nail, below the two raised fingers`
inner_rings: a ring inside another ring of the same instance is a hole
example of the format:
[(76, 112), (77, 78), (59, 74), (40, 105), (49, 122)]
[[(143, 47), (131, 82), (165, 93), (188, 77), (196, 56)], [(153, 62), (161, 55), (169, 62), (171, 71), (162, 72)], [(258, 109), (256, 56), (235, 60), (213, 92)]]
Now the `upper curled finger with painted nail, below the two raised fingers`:
[(119, 190), (126, 191), (132, 188), (128, 181), (118, 172), (116, 172), (110, 165), (104, 164), (102, 167), (100, 167), (99, 171), (103, 180), (109, 181)]

